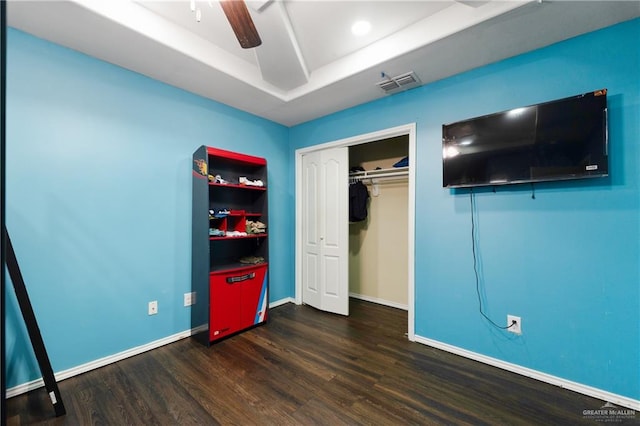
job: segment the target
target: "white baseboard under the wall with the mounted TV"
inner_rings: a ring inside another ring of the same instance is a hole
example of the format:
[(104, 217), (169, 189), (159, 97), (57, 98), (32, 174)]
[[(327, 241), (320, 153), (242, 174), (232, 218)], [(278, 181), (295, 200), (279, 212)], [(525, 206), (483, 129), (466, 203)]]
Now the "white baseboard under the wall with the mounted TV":
[[(612, 404), (621, 405), (623, 407), (631, 408), (636, 411), (640, 410), (640, 400), (637, 400), (637, 399), (629, 398), (622, 395), (617, 395), (615, 393), (611, 393), (611, 392), (604, 391), (602, 389), (583, 385), (581, 383), (572, 382), (571, 380), (552, 376), (551, 374), (543, 373), (537, 370), (532, 370), (530, 368), (522, 367), (520, 365), (512, 364), (510, 362), (502, 361), (486, 355), (481, 355), (479, 353), (471, 352), (466, 349), (459, 348), (457, 346), (439, 342), (437, 340), (428, 339), (426, 337), (421, 337), (418, 335), (416, 335), (415, 337), (416, 337), (415, 341), (418, 343), (422, 343), (423, 345), (431, 346), (436, 349), (441, 349), (443, 351), (460, 355), (462, 357), (469, 358), (474, 361), (482, 362), (483, 364), (488, 364), (493, 367), (498, 367), (503, 370), (511, 371), (512, 373), (530, 377), (532, 379), (536, 379), (541, 382), (559, 386), (564, 389), (569, 389), (571, 391), (578, 392), (593, 398), (601, 399), (603, 401), (607, 401)], [(592, 407), (585, 407), (585, 409), (591, 409), (591, 408)]]

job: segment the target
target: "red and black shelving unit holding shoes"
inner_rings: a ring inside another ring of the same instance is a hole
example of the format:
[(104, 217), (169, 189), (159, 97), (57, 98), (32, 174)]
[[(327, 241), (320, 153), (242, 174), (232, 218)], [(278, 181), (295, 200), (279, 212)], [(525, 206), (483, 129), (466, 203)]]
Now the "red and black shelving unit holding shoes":
[(267, 320), (267, 192), (264, 158), (194, 153), (191, 323), (204, 344)]

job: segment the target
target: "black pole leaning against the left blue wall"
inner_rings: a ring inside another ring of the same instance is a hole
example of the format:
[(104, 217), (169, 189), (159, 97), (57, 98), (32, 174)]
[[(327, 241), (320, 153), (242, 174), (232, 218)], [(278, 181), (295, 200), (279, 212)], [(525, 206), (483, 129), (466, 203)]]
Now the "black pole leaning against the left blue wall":
[(24, 280), (22, 279), (22, 273), (20, 272), (18, 260), (16, 259), (15, 252), (13, 251), (13, 245), (11, 244), (11, 239), (9, 238), (9, 233), (7, 232), (6, 227), (2, 228), (2, 237), (6, 244), (6, 262), (7, 269), (9, 270), (9, 277), (11, 277), (11, 281), (13, 282), (13, 288), (16, 292), (18, 305), (20, 305), (20, 311), (22, 312), (22, 318), (24, 318), (24, 323), (26, 324), (27, 331), (29, 332), (29, 339), (31, 340), (33, 351), (36, 354), (36, 359), (40, 366), (40, 372), (42, 373), (42, 379), (44, 380), (44, 387), (47, 389), (49, 398), (53, 403), (56, 417), (63, 416), (66, 414), (66, 410), (62, 402), (60, 390), (58, 389), (58, 383), (53, 375), (53, 369), (51, 368), (51, 362), (47, 355), (47, 349), (44, 346), (42, 334), (40, 334), (40, 327), (38, 327), (36, 316), (33, 312), (31, 302), (29, 301), (27, 288), (24, 284)]

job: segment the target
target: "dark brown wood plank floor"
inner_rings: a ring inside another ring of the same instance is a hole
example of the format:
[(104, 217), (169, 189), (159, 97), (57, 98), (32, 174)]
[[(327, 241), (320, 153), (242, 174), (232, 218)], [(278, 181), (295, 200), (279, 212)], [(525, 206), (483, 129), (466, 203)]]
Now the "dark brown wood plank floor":
[(575, 425), (604, 402), (407, 341), (406, 312), (348, 318), (287, 304), (203, 347), (192, 339), (7, 401), (7, 424)]

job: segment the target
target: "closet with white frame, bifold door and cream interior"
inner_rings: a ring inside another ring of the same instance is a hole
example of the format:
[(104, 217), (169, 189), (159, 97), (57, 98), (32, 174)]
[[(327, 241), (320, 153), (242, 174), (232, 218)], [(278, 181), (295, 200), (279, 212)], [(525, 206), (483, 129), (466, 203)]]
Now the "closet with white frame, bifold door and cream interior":
[[(296, 304), (341, 315), (349, 298), (404, 309), (415, 341), (415, 154), (415, 123), (296, 150)], [(365, 170), (350, 175), (353, 165)], [(355, 180), (370, 199), (367, 218), (351, 224)]]

